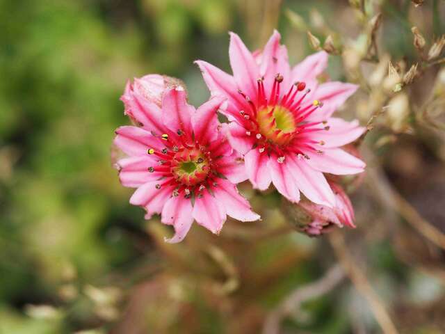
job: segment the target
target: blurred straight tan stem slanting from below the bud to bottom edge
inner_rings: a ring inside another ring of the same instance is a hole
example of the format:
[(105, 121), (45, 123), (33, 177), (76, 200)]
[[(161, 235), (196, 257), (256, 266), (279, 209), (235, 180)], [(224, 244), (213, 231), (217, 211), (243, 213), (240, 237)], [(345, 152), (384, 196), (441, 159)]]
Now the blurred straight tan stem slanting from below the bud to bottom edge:
[(391, 317), (389, 317), (387, 310), (385, 310), (385, 305), (380, 300), (378, 294), (374, 292), (373, 287), (366, 279), (364, 273), (359, 269), (359, 267), (357, 267), (353, 261), (353, 258), (350, 256), (350, 253), (346, 248), (343, 234), (341, 234), (341, 232), (334, 231), (329, 234), (329, 240), (332, 244), (332, 248), (334, 248), (337, 257), (339, 258), (339, 262), (346, 270), (346, 273), (348, 273), (350, 280), (353, 282), (359, 293), (362, 294), (369, 302), (369, 305), (371, 305), (371, 310), (373, 311), (374, 317), (378, 321), (378, 324), (382, 328), (383, 333), (398, 333), (396, 326), (391, 320)]

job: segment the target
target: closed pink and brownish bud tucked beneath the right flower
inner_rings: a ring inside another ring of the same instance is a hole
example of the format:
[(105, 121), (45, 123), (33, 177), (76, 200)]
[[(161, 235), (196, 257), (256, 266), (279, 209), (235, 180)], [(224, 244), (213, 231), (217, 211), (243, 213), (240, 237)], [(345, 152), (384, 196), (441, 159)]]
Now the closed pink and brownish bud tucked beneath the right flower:
[(335, 206), (318, 205), (306, 198), (297, 204), (286, 202), (284, 212), (295, 228), (309, 237), (317, 237), (344, 225), (355, 228), (354, 209), (341, 186), (330, 182), (335, 195)]

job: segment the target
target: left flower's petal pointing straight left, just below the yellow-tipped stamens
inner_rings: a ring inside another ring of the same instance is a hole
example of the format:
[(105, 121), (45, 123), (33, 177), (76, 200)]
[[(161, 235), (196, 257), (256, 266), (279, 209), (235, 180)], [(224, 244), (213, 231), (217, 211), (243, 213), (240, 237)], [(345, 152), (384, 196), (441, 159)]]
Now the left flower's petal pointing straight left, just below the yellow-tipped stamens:
[(147, 182), (159, 179), (159, 173), (149, 173), (148, 168), (155, 166), (156, 160), (151, 156), (138, 156), (120, 159), (117, 163), (119, 180), (123, 186), (137, 188)]

